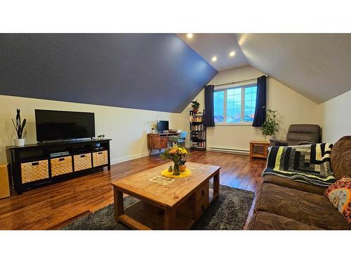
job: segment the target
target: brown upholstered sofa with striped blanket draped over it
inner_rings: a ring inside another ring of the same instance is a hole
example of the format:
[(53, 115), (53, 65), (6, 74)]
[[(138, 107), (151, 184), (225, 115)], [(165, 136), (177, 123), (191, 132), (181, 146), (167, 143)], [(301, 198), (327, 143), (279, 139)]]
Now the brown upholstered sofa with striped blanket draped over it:
[[(351, 176), (351, 136), (342, 137), (331, 151), (336, 180)], [(326, 188), (265, 175), (255, 197), (247, 229), (351, 229), (343, 215), (324, 196)]]

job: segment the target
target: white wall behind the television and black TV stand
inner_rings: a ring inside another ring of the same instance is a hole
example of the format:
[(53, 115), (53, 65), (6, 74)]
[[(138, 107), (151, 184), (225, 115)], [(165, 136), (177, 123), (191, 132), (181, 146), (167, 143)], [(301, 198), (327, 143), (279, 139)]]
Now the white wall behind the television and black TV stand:
[(27, 119), (26, 144), (37, 142), (34, 109), (94, 112), (96, 135), (104, 134), (112, 139), (112, 163), (149, 154), (147, 132), (152, 125), (148, 123), (149, 121), (166, 120), (169, 121), (170, 128), (183, 128), (180, 124), (181, 115), (176, 113), (0, 95), (0, 163), (6, 162), (5, 147), (13, 145), (13, 139), (15, 139), (11, 119), (15, 118), (16, 108), (21, 110), (22, 119)]

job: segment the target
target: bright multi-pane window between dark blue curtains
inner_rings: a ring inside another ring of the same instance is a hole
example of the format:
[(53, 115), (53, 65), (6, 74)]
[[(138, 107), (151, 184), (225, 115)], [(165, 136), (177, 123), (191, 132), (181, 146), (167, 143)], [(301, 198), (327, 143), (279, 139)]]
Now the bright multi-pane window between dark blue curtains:
[(213, 93), (215, 123), (251, 123), (255, 115), (257, 86), (216, 90)]

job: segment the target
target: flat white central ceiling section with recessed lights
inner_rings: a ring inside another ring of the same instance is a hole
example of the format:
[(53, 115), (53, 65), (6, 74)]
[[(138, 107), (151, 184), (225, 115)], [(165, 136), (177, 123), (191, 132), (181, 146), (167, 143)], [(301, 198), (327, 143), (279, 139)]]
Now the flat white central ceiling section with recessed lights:
[[(249, 65), (234, 34), (193, 34), (191, 39), (187, 38), (187, 34), (177, 36), (218, 71)], [(232, 51), (235, 52), (234, 57), (229, 56)], [(213, 56), (217, 57), (216, 62), (211, 60)]]

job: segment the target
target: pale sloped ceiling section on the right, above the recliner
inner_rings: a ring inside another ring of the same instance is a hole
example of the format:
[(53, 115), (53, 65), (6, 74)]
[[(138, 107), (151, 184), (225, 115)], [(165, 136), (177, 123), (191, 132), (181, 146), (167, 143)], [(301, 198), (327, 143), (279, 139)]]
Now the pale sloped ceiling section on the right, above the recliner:
[(351, 34), (236, 34), (249, 64), (314, 102), (351, 89)]

